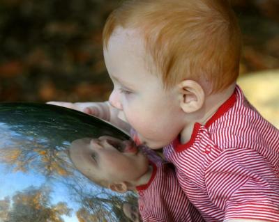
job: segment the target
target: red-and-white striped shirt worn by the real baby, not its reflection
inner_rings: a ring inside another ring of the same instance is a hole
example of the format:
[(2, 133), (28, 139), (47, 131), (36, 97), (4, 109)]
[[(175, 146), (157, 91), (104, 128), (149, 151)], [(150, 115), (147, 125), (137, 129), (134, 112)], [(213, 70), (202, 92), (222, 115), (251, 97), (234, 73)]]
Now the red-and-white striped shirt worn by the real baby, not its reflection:
[(238, 86), (188, 143), (177, 138), (164, 155), (205, 221), (279, 221), (279, 131)]

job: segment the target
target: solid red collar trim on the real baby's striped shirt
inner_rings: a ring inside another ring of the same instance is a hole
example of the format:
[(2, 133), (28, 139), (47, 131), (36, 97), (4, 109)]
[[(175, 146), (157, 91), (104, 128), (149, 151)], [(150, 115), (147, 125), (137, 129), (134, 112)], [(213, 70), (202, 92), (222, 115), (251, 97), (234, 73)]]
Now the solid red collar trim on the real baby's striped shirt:
[[(218, 118), (223, 116), (224, 113), (226, 113), (230, 108), (232, 108), (235, 102), (236, 102), (236, 90), (234, 90), (234, 93), (229, 97), (229, 99), (226, 102), (224, 102), (218, 108), (216, 113), (214, 113), (214, 115), (211, 116), (211, 118), (206, 122), (204, 126), (206, 128), (209, 127), (214, 121), (216, 121)], [(198, 122), (195, 123), (191, 138), (187, 143), (181, 144), (180, 137), (179, 136), (176, 137), (176, 139), (173, 141), (174, 150), (176, 150), (176, 152), (181, 152), (187, 148), (190, 148), (190, 146), (194, 144), (195, 139), (197, 137), (197, 133), (199, 132), (199, 128), (201, 126), (202, 125), (200, 125)]]

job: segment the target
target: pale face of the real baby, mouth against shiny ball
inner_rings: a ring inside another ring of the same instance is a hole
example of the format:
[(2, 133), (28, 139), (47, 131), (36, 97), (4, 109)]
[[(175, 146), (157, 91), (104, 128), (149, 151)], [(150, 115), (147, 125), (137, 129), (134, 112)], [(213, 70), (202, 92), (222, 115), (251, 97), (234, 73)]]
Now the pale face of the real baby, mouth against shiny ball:
[(165, 90), (140, 36), (133, 29), (116, 28), (104, 50), (114, 84), (110, 103), (119, 109), (119, 118), (136, 130), (137, 143), (158, 149), (171, 143), (184, 127), (183, 98), (178, 87)]

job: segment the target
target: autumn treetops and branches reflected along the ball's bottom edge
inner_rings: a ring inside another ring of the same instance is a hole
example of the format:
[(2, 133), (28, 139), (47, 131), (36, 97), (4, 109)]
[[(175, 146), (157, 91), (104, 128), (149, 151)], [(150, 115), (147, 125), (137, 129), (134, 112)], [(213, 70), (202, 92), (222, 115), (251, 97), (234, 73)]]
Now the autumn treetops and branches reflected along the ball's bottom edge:
[[(69, 187), (70, 188), (70, 185)], [(62, 216), (76, 216), (78, 221), (126, 221), (121, 206), (135, 193), (117, 195), (109, 190), (84, 191), (82, 187), (72, 189), (80, 203), (78, 209), (70, 209), (65, 202), (52, 203), (50, 187), (28, 187), (17, 191), (12, 197), (0, 200), (0, 221), (3, 222), (63, 222)]]

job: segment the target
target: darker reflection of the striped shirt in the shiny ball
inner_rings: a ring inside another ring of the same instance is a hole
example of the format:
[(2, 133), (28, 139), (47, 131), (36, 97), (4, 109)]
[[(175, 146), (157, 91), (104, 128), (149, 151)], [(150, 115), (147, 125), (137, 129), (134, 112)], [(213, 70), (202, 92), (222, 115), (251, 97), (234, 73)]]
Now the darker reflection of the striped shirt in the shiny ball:
[(204, 221), (179, 187), (174, 166), (163, 162), (153, 150), (145, 152), (153, 166), (153, 173), (147, 184), (137, 187), (142, 221)]

